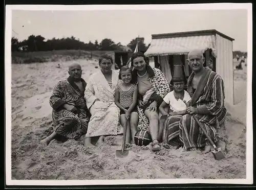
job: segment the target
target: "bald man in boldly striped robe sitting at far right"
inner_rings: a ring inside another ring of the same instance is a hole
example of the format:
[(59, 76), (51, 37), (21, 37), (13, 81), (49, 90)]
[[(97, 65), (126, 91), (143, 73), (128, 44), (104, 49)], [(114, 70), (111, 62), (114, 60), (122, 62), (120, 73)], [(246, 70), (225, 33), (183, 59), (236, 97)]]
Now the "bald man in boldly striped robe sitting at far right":
[[(187, 91), (191, 96), (191, 101), (186, 108), (188, 114), (183, 115), (180, 122), (169, 123), (169, 128), (174, 129), (176, 125), (177, 131), (169, 130), (168, 140), (170, 144), (172, 141), (176, 143), (179, 140), (186, 150), (204, 148), (203, 153), (210, 152), (209, 141), (191, 116), (195, 115), (214, 143), (217, 143), (217, 147), (221, 147), (224, 151), (226, 144), (217, 134), (227, 113), (224, 107), (224, 83), (217, 73), (203, 67), (204, 59), (200, 50), (193, 50), (188, 54), (187, 61), (193, 70), (187, 84)], [(180, 135), (179, 138), (176, 138), (175, 133)]]

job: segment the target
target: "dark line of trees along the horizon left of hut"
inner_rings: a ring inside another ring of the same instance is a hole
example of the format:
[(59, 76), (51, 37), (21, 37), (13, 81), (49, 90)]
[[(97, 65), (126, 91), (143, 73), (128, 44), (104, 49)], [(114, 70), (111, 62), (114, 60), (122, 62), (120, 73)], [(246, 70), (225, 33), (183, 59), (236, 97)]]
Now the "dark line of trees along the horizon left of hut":
[[(37, 52), (37, 51), (53, 51), (53, 50), (86, 50), (86, 51), (134, 51), (137, 41), (139, 42), (139, 51), (145, 52), (150, 46), (144, 43), (144, 38), (135, 38), (130, 41), (129, 44), (122, 45), (120, 42), (115, 43), (112, 39), (105, 38), (100, 43), (89, 41), (84, 43), (75, 38), (74, 36), (68, 38), (52, 38), (46, 40), (41, 35), (30, 35), (28, 39), (18, 41), (17, 38), (12, 37), (11, 39), (11, 51), (12, 52)], [(127, 48), (129, 47), (129, 48)], [(128, 49), (128, 50), (127, 50)]]

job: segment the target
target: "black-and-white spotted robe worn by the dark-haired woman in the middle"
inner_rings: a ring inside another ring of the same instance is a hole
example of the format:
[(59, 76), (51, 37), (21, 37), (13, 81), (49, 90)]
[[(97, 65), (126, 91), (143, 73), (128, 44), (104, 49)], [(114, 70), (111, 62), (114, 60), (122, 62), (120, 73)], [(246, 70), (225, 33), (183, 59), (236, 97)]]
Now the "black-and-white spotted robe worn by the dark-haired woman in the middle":
[[(150, 65), (146, 65), (148, 78), (150, 79), (151, 86), (154, 89), (154, 93), (148, 99), (148, 102), (157, 101), (157, 108), (159, 108), (160, 104), (163, 102), (163, 98), (170, 91), (169, 84), (164, 76), (158, 68), (152, 68)], [(137, 70), (133, 70), (133, 76), (137, 79)], [(137, 81), (136, 81), (137, 82)], [(139, 97), (142, 100), (142, 97)], [(149, 130), (149, 121), (143, 110), (137, 105), (137, 110), (139, 114), (139, 124), (138, 128), (140, 130)]]

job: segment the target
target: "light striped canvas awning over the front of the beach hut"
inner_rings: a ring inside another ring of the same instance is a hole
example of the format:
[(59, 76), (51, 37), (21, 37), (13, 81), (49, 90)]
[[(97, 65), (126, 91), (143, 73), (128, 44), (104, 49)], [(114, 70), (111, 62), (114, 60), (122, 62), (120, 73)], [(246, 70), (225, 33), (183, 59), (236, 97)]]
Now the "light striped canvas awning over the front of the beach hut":
[(216, 57), (215, 42), (215, 35), (152, 39), (151, 45), (148, 47), (145, 55), (183, 55), (188, 54), (193, 49), (212, 49), (214, 56)]

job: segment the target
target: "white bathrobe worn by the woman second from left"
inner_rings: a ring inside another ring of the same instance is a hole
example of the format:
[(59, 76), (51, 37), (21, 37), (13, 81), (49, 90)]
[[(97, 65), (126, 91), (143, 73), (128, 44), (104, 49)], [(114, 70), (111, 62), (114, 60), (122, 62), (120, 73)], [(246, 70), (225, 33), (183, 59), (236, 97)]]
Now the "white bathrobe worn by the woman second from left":
[[(118, 73), (112, 70), (112, 84), (106, 81), (101, 70), (91, 75), (84, 95), (92, 114), (86, 137), (117, 135), (122, 133), (119, 124), (120, 109), (115, 104)], [(110, 86), (111, 85), (111, 86)], [(98, 99), (99, 101), (95, 100)]]

